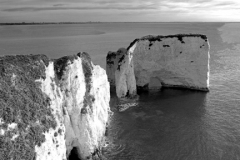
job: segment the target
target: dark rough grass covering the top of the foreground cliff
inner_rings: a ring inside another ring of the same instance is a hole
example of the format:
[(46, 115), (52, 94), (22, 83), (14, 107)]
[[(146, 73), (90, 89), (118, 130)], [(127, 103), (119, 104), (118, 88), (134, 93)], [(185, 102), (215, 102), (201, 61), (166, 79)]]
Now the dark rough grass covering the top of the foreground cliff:
[[(0, 118), (5, 130), (0, 135), (0, 159), (33, 160), (35, 146), (45, 141), (44, 132), (56, 127), (50, 99), (36, 79), (45, 78), (48, 58), (44, 55), (5, 56), (0, 58)], [(7, 126), (17, 127), (7, 131)], [(11, 140), (14, 135), (19, 135)]]

